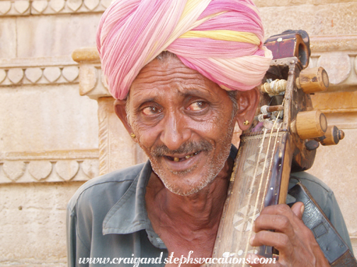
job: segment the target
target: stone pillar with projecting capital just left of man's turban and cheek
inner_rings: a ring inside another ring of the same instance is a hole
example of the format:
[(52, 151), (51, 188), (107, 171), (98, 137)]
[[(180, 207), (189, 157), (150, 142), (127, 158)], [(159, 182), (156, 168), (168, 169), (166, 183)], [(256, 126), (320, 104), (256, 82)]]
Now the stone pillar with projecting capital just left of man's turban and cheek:
[(114, 99), (108, 92), (95, 47), (73, 52), (79, 62), (79, 93), (98, 101), (99, 173), (129, 167), (147, 160), (142, 149), (132, 141), (113, 108)]

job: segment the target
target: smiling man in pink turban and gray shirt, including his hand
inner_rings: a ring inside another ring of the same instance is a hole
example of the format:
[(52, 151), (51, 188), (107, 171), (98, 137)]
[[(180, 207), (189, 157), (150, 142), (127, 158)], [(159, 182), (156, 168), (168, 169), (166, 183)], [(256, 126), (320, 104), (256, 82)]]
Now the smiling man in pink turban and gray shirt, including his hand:
[[(256, 86), (271, 61), (254, 4), (118, 0), (103, 15), (97, 44), (115, 112), (149, 161), (77, 191), (68, 206), (69, 266), (89, 257), (133, 266), (124, 259), (159, 259), (161, 253), (162, 261), (150, 264), (165, 266), (172, 253), (187, 257), (190, 251), (209, 258), (237, 154), (234, 124), (249, 128), (259, 102)], [(327, 186), (297, 175), (346, 236)], [(302, 223), (303, 209), (302, 203), (267, 207), (254, 223), (251, 244), (276, 247), (276, 266), (329, 266)]]

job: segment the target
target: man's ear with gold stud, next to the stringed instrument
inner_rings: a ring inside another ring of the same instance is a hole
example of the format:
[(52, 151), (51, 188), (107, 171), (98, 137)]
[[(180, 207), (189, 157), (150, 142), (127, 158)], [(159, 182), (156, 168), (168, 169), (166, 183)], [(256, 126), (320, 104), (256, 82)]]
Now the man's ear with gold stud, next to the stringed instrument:
[[(259, 104), (259, 96), (258, 88), (237, 93), (238, 110), (236, 119), (242, 131), (246, 131), (251, 126), (256, 114), (256, 107)], [(249, 121), (249, 124), (244, 125), (244, 121)]]

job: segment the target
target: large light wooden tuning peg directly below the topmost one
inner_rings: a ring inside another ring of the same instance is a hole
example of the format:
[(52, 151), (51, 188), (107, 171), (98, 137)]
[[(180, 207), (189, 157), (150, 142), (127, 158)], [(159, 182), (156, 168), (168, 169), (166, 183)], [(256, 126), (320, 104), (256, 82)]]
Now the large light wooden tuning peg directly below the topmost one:
[(324, 136), (327, 130), (326, 116), (317, 110), (297, 113), (295, 121), (291, 123), (291, 130), (301, 139), (313, 139)]

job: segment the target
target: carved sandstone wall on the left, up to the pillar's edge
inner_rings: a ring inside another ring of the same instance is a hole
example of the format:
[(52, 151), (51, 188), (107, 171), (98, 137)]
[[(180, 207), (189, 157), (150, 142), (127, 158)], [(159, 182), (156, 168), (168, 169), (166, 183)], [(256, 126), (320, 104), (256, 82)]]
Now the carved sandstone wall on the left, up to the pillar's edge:
[(108, 1), (0, 1), (0, 266), (66, 266), (65, 213), (98, 176), (98, 103), (71, 53)]

